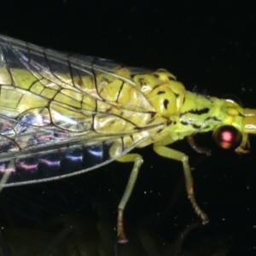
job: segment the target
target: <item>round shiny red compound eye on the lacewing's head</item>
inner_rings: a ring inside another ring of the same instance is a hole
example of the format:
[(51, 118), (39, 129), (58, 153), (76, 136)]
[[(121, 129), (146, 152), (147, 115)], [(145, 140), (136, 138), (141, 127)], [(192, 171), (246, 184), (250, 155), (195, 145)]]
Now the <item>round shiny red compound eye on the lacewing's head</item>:
[(234, 126), (224, 125), (213, 132), (213, 138), (219, 147), (235, 149), (241, 144), (241, 132)]

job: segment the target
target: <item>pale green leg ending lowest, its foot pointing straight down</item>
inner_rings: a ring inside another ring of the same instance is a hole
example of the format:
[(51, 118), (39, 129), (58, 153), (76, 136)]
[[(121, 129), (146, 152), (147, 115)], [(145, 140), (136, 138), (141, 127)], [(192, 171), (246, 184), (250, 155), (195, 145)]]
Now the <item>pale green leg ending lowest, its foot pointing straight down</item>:
[(118, 208), (118, 219), (117, 219), (117, 234), (119, 238), (119, 243), (125, 243), (128, 240), (125, 237), (125, 231), (124, 231), (124, 223), (123, 223), (123, 214), (125, 210), (125, 206), (127, 201), (129, 200), (131, 196), (132, 189), (134, 188), (134, 185), (137, 180), (137, 174), (140, 169), (140, 167), (143, 164), (143, 158), (140, 154), (125, 154), (119, 159), (117, 159), (119, 162), (134, 162), (134, 166), (131, 170), (131, 175), (129, 177), (129, 181), (125, 188), (125, 193), (119, 202), (119, 208)]

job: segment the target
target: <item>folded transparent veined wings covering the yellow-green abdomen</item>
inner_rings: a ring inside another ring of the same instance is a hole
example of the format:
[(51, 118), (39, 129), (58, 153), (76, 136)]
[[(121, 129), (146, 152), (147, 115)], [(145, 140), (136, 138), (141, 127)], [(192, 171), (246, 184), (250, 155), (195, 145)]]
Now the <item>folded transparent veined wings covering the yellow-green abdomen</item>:
[(88, 172), (148, 139), (160, 124), (142, 72), (0, 36), (0, 186)]

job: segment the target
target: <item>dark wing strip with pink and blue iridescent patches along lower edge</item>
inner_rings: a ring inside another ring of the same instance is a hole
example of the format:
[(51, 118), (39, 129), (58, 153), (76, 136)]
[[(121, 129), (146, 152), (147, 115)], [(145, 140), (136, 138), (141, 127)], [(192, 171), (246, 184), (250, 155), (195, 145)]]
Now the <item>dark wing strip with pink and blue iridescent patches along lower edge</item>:
[(84, 169), (90, 171), (91, 168), (102, 166), (111, 159), (111, 145), (111, 142), (99, 142), (3, 161), (0, 163), (1, 175), (5, 172), (10, 174), (8, 183), (4, 186), (38, 183), (65, 175), (72, 176)]

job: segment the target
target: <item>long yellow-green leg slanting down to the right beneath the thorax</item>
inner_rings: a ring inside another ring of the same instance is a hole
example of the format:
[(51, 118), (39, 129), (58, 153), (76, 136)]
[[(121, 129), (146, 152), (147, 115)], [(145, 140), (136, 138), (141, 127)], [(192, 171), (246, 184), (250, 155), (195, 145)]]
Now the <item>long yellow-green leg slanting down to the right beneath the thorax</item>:
[(195, 195), (194, 195), (194, 189), (193, 189), (193, 177), (189, 167), (188, 155), (183, 154), (182, 152), (179, 152), (175, 149), (167, 148), (164, 145), (160, 145), (160, 143), (154, 144), (154, 151), (157, 154), (160, 154), (160, 156), (182, 162), (183, 172), (185, 175), (186, 189), (189, 195), (189, 201), (191, 201), (196, 214), (201, 218), (202, 224), (207, 224), (208, 222), (207, 214), (201, 210), (201, 208), (197, 205), (197, 202), (195, 201)]

